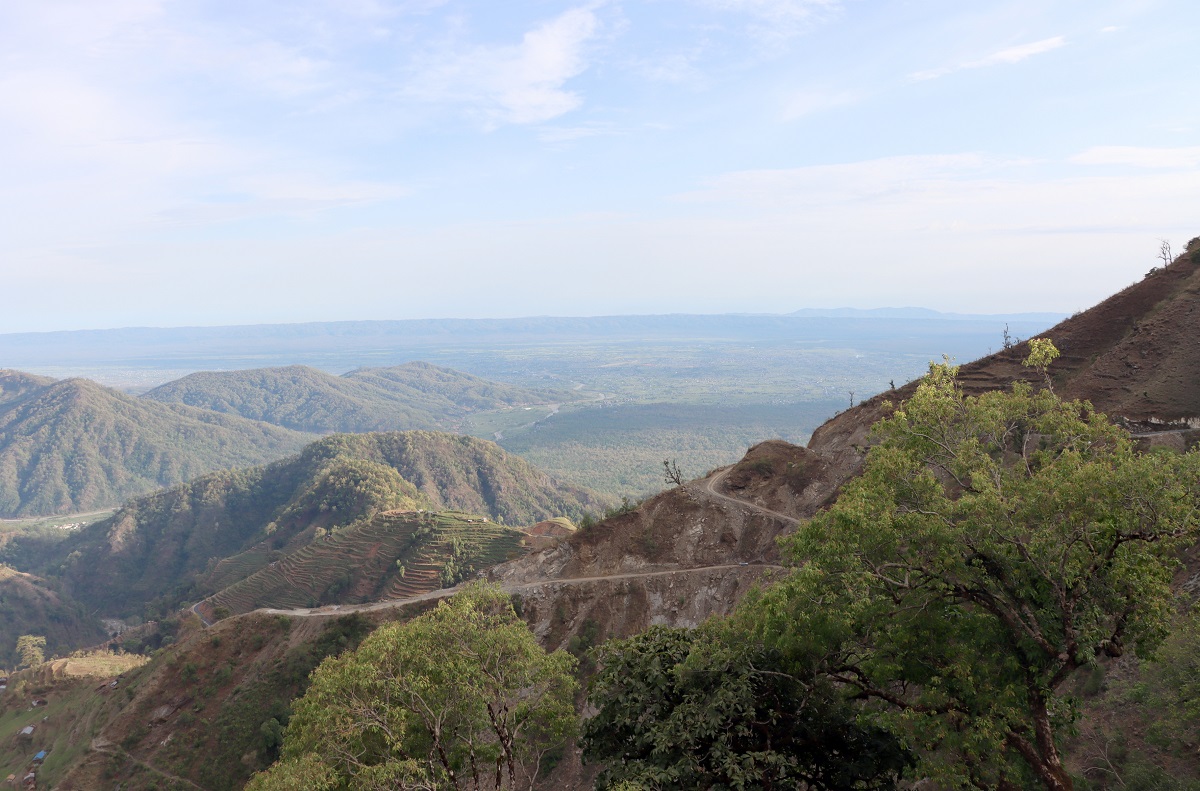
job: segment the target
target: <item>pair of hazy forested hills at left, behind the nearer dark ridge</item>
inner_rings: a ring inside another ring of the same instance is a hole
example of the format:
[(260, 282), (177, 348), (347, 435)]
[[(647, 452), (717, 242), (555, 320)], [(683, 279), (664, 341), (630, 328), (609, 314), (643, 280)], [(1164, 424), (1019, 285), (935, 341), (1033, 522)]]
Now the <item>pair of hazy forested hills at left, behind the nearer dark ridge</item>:
[(0, 371), (0, 517), (116, 505), (319, 433), (454, 429), (472, 412), (565, 400), (426, 362), (334, 376), (200, 372), (134, 397), (88, 379)]

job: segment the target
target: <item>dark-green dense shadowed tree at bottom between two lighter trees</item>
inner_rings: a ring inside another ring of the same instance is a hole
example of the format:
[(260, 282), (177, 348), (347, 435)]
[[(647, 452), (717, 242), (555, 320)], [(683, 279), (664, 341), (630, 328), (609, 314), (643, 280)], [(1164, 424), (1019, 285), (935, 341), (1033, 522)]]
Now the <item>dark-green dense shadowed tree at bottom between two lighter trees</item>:
[(598, 790), (895, 787), (910, 757), (894, 737), (722, 631), (652, 627), (600, 648), (582, 738)]

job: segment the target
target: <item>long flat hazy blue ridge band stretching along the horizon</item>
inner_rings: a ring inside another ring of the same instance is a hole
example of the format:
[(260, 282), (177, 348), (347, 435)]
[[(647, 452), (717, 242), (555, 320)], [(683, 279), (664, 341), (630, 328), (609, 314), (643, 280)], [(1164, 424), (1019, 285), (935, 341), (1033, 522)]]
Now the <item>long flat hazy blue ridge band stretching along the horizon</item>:
[[(976, 316), (923, 308), (806, 308), (792, 314), (724, 313), (312, 322), (242, 326), (125, 328), (0, 334), (0, 366), (43, 373), (97, 376), (112, 382), (161, 383), (154, 372), (238, 370), (302, 364), (326, 371), (428, 360), (536, 386), (530, 374), (560, 376), (569, 344), (805, 343), (974, 359), (998, 343), (1006, 324), (1030, 337), (1064, 314)], [(953, 319), (953, 320), (948, 320)], [(527, 349), (532, 370), (487, 356), (490, 349)], [(570, 360), (570, 355), (566, 355)], [(570, 382), (558, 379), (566, 386)], [(559, 384), (558, 386), (563, 386)]]

